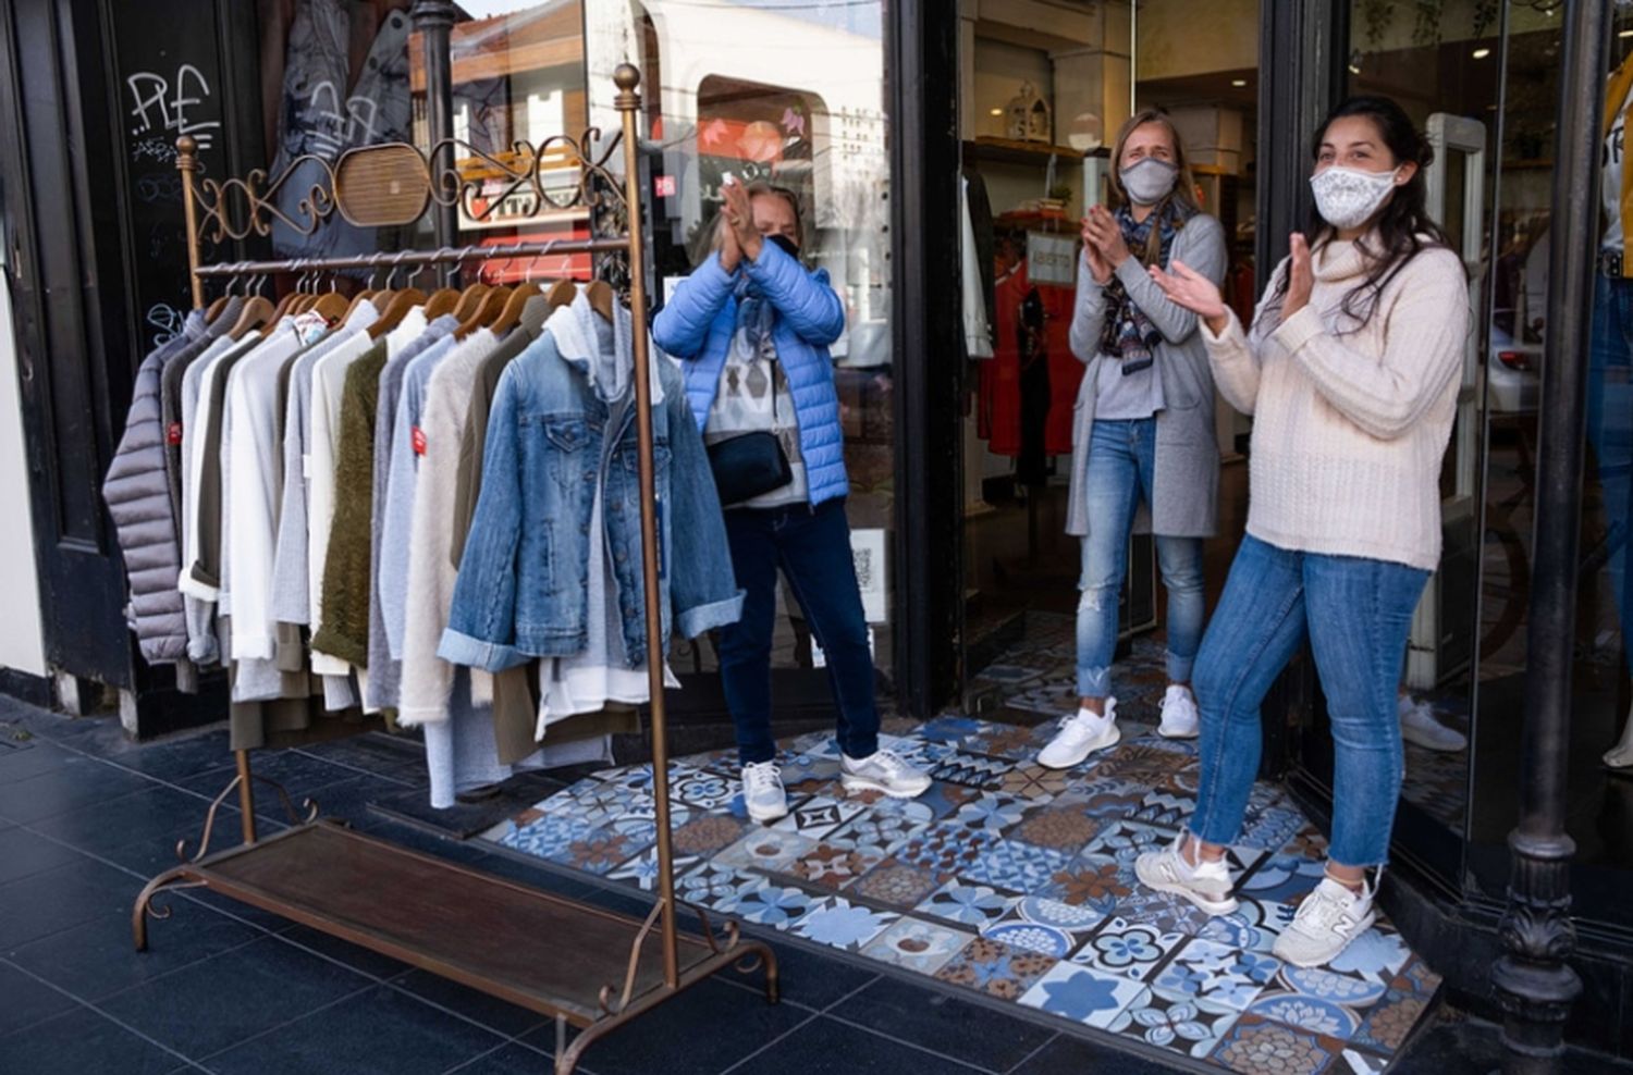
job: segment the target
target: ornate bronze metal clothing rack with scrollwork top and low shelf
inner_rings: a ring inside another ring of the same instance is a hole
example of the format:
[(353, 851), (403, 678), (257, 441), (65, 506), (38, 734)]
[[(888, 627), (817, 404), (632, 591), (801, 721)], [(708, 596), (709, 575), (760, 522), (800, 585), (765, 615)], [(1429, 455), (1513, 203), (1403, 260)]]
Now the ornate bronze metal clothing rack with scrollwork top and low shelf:
[[(274, 222), (302, 235), (312, 235), (335, 212), (353, 223), (369, 227), (413, 223), (433, 204), (447, 209), (464, 202), (469, 212), (470, 184), (452, 166), (439, 171), (433, 163), (444, 158), (444, 150), (454, 148), (452, 140), (439, 142), (428, 153), (403, 144), (356, 148), (341, 155), (333, 165), (305, 157), (292, 161), (269, 183), (265, 171), (199, 183), (198, 147), (186, 135), (176, 140), (194, 308), (204, 307), (202, 284), (212, 277), (459, 266), (477, 258), (537, 258), (550, 253), (612, 253), (629, 258), (629, 303), (635, 323), (635, 429), (640, 460), (642, 569), (658, 856), (658, 902), (652, 914), (642, 920), (607, 912), (436, 856), (420, 855), (341, 824), (320, 821), (317, 806), (310, 803), (309, 812), (300, 817), (281, 786), (253, 772), (248, 750), (235, 752), (237, 775), (211, 803), (199, 850), (188, 856), (186, 842), (180, 842), (176, 853), (183, 863), (155, 876), (142, 889), (132, 910), (136, 948), (144, 951), (147, 917), (168, 917), (168, 910), (152, 902), (160, 891), (209, 887), (552, 1016), (557, 1024), (557, 1075), (573, 1072), (585, 1049), (604, 1034), (727, 967), (743, 974), (764, 967), (768, 1000), (776, 1002), (779, 992), (776, 956), (764, 943), (743, 940), (732, 923), (717, 933), (702, 909), (696, 907), (692, 910), (699, 915), (701, 935), (681, 936), (678, 928), (658, 604), (661, 591), (652, 434), (652, 356), (645, 331), (645, 253), (640, 240), (637, 152), (640, 72), (624, 64), (614, 73), (614, 82), (619, 90), (616, 108), (622, 131), (614, 135), (612, 145), (599, 160), (588, 153), (590, 142), (599, 137), (594, 129), (586, 131), (578, 142), (557, 135), (537, 147), (527, 147), (532, 157), (526, 165), (498, 161), (465, 142), (457, 142), (467, 153), (505, 170), (509, 184), (506, 196), (529, 189), (537, 197), (537, 206), (557, 209), (563, 207), (558, 188), (545, 196), (541, 170), (547, 148), (555, 153), (555, 160), (562, 147), (572, 150), (580, 171), (572, 204), (590, 207), (591, 220), (598, 210), (612, 210), (621, 225), (619, 233), (612, 237), (202, 264), (199, 253), (202, 240), (222, 243), (229, 238), (265, 237)], [(617, 142), (622, 142), (624, 153), (622, 178), (606, 166)], [(452, 158), (452, 153), (447, 152), (446, 158)], [(276, 194), (299, 165), (314, 160), (323, 166), (328, 183), (317, 184), (299, 202), (299, 219), (291, 217), (279, 210), (274, 202)], [(552, 178), (558, 176), (560, 165), (552, 163), (550, 171)], [(493, 199), (495, 204), (498, 201), (501, 199)], [(483, 214), (472, 215), (480, 219)], [(258, 838), (255, 827), (256, 780), (268, 783), (278, 793), (292, 822), (291, 829), (265, 840)], [(238, 794), (243, 842), (211, 853), (216, 814), (234, 791)], [(655, 931), (660, 941), (656, 959), (647, 946)], [(581, 1031), (572, 1042), (567, 1041), (568, 1024)]]

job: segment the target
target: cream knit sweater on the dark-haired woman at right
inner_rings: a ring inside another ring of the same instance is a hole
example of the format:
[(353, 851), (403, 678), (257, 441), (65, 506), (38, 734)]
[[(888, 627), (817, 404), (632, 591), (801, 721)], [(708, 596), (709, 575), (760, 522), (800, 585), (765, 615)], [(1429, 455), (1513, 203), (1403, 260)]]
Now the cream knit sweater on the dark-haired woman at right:
[[(1468, 277), (1426, 250), (1390, 281), (1365, 326), (1341, 312), (1365, 279), (1354, 243), (1315, 254), (1310, 303), (1244, 333), (1202, 336), (1220, 393), (1253, 414), (1248, 533), (1279, 548), (1440, 563), (1440, 460), (1468, 336)], [(1287, 272), (1277, 266), (1259, 305)]]

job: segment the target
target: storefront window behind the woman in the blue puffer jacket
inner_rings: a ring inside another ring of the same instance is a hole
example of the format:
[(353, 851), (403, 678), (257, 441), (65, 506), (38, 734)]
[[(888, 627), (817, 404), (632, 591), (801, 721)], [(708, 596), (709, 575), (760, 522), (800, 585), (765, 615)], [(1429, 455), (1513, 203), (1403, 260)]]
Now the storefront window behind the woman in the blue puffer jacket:
[[(830, 347), (839, 390), (846, 512), (874, 659), (892, 667), (895, 512), (890, 354), (890, 157), (885, 0), (598, 0), (585, 5), (590, 122), (617, 129), (612, 72), (642, 69), (656, 300), (709, 254), (727, 175), (787, 188), (807, 264), (828, 271), (846, 330)], [(820, 648), (784, 584), (774, 669), (818, 669)], [(707, 643), (681, 654), (714, 669)], [(816, 683), (826, 692), (825, 677)]]

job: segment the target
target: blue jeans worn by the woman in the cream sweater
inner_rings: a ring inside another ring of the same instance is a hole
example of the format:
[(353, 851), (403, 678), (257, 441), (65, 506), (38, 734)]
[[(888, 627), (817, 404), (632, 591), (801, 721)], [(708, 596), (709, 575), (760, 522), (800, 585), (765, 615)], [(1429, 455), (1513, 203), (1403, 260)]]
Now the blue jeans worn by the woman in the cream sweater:
[(1241, 834), (1259, 773), (1259, 705), (1308, 636), (1333, 723), (1329, 858), (1388, 861), (1404, 773), (1395, 688), (1427, 581), (1406, 564), (1243, 538), (1197, 656), (1202, 786), (1192, 835), (1231, 843)]

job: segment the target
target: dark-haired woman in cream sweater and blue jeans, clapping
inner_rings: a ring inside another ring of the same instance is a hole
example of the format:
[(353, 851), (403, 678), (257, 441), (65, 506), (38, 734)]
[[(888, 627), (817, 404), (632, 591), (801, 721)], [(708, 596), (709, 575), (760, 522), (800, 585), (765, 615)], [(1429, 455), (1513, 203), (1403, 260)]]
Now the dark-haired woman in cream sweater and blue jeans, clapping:
[(1440, 560), (1440, 458), (1457, 408), (1468, 279), (1424, 210), (1434, 153), (1401, 108), (1354, 98), (1315, 137), (1316, 215), (1244, 328), (1184, 264), (1151, 277), (1202, 318), (1213, 380), (1254, 416), (1248, 537), (1202, 641), (1202, 786), (1140, 879), (1236, 909), (1225, 848), (1259, 768), (1259, 705), (1308, 638), (1334, 739), (1326, 876), (1275, 956), (1333, 961), (1373, 922), (1403, 755), (1395, 687)]

